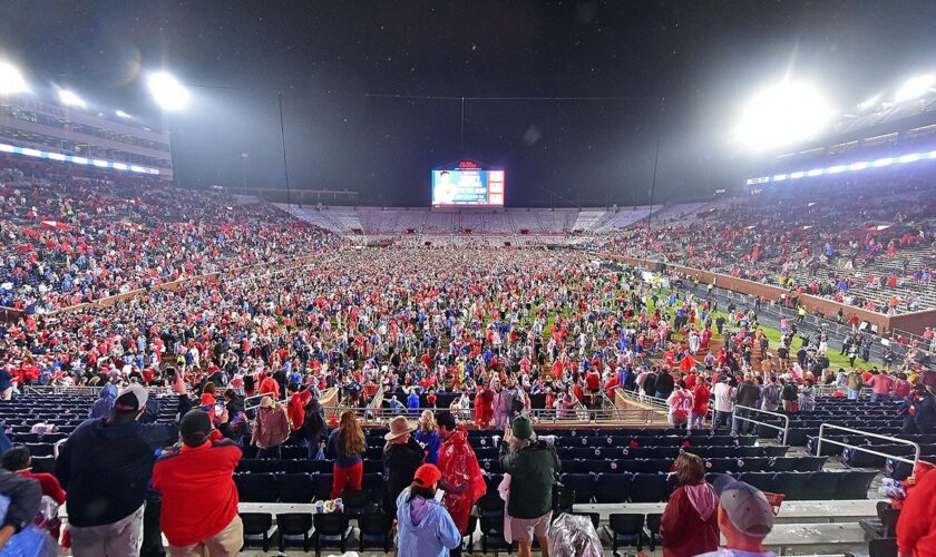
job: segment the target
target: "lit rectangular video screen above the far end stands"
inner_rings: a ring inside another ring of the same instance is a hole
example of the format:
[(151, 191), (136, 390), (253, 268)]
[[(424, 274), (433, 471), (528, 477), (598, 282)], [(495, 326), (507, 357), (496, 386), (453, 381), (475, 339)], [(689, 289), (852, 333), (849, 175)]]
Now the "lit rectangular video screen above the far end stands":
[(432, 170), (432, 206), (504, 206), (504, 170)]

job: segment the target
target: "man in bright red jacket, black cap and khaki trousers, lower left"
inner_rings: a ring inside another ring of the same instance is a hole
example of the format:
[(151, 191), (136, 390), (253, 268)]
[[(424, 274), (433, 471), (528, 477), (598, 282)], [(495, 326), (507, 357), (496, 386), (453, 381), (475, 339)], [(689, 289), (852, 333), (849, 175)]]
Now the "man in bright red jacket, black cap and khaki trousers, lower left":
[[(233, 557), (244, 543), (234, 469), (241, 448), (212, 440), (212, 419), (192, 410), (179, 422), (182, 443), (165, 449), (153, 467), (153, 489), (163, 495), (159, 526), (173, 556)], [(215, 436), (216, 437), (216, 436)]]

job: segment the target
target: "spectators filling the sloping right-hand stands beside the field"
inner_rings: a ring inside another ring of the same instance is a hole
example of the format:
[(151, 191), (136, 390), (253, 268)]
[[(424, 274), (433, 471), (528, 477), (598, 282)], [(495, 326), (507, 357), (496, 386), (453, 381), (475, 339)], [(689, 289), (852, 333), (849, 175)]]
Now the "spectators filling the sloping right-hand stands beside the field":
[(761, 189), (596, 245), (880, 313), (925, 310), (936, 305), (936, 203), (926, 178), (828, 184), (821, 195)]

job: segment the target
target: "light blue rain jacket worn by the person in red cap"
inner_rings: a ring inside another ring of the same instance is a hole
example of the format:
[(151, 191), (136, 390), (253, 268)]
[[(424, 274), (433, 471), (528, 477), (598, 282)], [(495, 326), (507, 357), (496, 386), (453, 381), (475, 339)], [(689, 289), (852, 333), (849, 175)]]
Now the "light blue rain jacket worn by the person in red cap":
[(442, 504), (421, 497), (409, 499), (410, 489), (397, 498), (397, 555), (447, 557), (461, 544), (461, 534)]

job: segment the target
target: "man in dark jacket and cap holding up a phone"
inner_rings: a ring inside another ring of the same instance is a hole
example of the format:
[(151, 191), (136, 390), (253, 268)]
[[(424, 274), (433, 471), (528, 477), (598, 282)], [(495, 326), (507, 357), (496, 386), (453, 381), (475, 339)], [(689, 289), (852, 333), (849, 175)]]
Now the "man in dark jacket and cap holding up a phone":
[[(178, 412), (192, 408), (182, 373), (173, 389)], [(110, 417), (88, 420), (71, 433), (56, 459), (56, 477), (68, 491), (71, 550), (76, 557), (135, 556), (143, 543), (144, 500), (156, 449), (178, 438), (178, 423), (139, 423), (148, 392), (139, 384), (114, 401)]]

